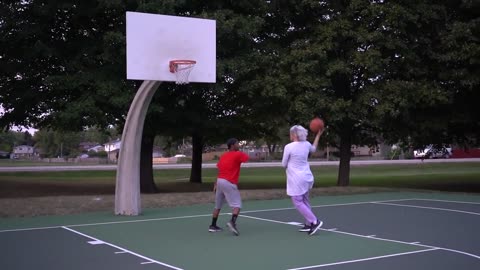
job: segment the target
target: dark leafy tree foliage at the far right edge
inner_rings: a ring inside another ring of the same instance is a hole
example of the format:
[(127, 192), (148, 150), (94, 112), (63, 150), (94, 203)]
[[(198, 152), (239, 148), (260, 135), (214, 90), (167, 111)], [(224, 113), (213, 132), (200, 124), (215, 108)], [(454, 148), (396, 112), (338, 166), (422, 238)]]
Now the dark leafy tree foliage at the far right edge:
[(475, 89), (479, 86), (480, 46), (478, 12), (474, 10), (479, 4), (441, 1), (424, 5), (431, 11), (417, 15), (415, 25), (422, 34), (408, 36), (410, 46), (419, 52), (408, 60), (413, 68), (405, 70), (402, 80), (407, 83), (390, 82), (399, 96), (397, 106), (379, 106), (388, 112), (382, 118), (385, 137), (407, 147), (478, 145), (480, 110), (476, 100), (480, 96)]

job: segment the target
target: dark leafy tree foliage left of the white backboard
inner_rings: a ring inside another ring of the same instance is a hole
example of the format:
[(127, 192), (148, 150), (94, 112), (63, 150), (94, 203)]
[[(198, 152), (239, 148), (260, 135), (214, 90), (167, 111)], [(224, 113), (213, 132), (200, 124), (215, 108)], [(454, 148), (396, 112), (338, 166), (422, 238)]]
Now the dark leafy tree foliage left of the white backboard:
[(1, 126), (82, 130), (122, 118), (134, 91), (134, 83), (123, 75), (125, 3), (40, 0), (1, 5)]

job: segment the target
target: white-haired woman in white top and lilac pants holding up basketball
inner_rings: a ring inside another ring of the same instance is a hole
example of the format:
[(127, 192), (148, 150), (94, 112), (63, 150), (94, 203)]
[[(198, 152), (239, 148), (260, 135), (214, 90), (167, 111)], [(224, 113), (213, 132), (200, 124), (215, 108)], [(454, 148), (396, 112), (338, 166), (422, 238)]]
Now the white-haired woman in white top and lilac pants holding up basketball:
[(308, 155), (315, 152), (323, 130), (320, 130), (313, 141), (307, 141), (308, 131), (296, 125), (290, 128), (291, 143), (283, 150), (282, 165), (287, 173), (287, 195), (292, 198), (292, 203), (305, 218), (305, 226), (300, 231), (308, 231), (309, 235), (315, 234), (323, 222), (318, 220), (310, 206), (309, 192), (313, 187), (313, 174), (308, 164)]

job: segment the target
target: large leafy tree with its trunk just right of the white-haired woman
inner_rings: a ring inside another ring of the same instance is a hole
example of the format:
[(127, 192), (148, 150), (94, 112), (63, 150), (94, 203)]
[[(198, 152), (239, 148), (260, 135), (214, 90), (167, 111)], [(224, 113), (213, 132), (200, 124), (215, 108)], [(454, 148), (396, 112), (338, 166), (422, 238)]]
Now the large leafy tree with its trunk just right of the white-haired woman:
[(438, 112), (452, 96), (439, 74), (455, 68), (438, 60), (454, 51), (440, 42), (447, 18), (459, 17), (448, 15), (461, 5), (453, 2), (271, 2), (275, 36), (288, 44), (279, 68), (292, 100), (290, 122), (326, 119), (328, 140), (340, 148), (338, 185), (349, 184), (352, 144), (450, 133), (432, 127), (444, 123)]

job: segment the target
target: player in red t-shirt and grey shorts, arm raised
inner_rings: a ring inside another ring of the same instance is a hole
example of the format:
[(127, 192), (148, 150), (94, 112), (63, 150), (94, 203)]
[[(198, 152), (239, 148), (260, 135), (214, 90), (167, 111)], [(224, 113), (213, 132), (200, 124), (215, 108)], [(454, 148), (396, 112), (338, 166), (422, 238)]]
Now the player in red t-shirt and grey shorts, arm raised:
[(240, 145), (238, 140), (231, 138), (227, 141), (228, 151), (224, 153), (217, 163), (218, 176), (214, 184), (215, 208), (212, 214), (212, 224), (208, 228), (209, 232), (220, 232), (222, 228), (217, 226), (218, 215), (222, 209), (225, 200), (232, 208), (232, 219), (227, 223), (227, 227), (235, 235), (239, 235), (237, 229), (237, 217), (242, 208), (242, 198), (238, 191), (238, 178), (240, 175), (240, 165), (248, 161), (248, 155), (238, 151)]

